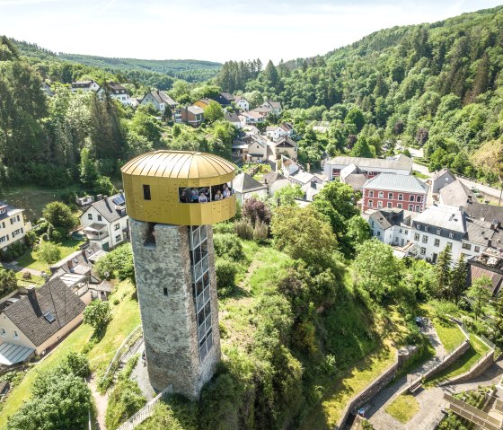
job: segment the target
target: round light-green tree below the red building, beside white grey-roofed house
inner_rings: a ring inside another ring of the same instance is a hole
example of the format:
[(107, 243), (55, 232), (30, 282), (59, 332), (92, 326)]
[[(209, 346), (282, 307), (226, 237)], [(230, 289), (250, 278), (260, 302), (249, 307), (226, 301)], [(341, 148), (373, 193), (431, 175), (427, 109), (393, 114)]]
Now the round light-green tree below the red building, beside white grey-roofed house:
[(391, 246), (372, 239), (357, 246), (353, 264), (355, 284), (377, 303), (383, 303), (402, 280), (402, 267)]

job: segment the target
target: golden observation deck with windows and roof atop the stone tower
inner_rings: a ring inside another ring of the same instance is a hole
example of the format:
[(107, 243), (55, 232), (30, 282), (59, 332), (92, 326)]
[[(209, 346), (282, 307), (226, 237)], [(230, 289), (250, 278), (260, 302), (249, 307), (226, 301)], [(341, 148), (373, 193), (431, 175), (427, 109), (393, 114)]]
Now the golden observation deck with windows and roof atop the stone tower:
[(128, 215), (138, 221), (205, 225), (235, 215), (235, 167), (216, 155), (154, 151), (121, 171)]

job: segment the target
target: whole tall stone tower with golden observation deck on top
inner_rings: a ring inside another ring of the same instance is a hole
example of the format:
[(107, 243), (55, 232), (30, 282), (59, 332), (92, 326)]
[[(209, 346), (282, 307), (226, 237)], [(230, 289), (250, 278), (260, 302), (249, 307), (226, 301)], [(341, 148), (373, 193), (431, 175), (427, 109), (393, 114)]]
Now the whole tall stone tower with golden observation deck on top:
[(122, 168), (144, 331), (156, 391), (190, 399), (220, 359), (211, 224), (235, 215), (234, 165), (212, 154), (156, 151)]

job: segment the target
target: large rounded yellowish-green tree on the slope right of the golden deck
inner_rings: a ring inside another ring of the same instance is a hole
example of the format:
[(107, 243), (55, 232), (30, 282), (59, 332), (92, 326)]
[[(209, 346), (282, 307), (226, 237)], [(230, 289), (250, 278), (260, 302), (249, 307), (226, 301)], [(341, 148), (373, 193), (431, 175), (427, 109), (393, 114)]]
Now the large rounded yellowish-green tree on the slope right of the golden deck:
[(293, 259), (302, 259), (313, 268), (331, 266), (337, 241), (326, 218), (313, 206), (279, 206), (272, 217), (271, 231), (278, 249)]

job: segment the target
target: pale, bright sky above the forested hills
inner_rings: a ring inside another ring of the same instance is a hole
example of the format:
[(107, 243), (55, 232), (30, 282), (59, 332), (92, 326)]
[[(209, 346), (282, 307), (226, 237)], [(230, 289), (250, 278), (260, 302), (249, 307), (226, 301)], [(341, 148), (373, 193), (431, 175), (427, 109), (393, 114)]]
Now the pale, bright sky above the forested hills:
[(313, 57), (394, 25), (502, 0), (0, 0), (0, 34), (54, 52), (202, 59)]

